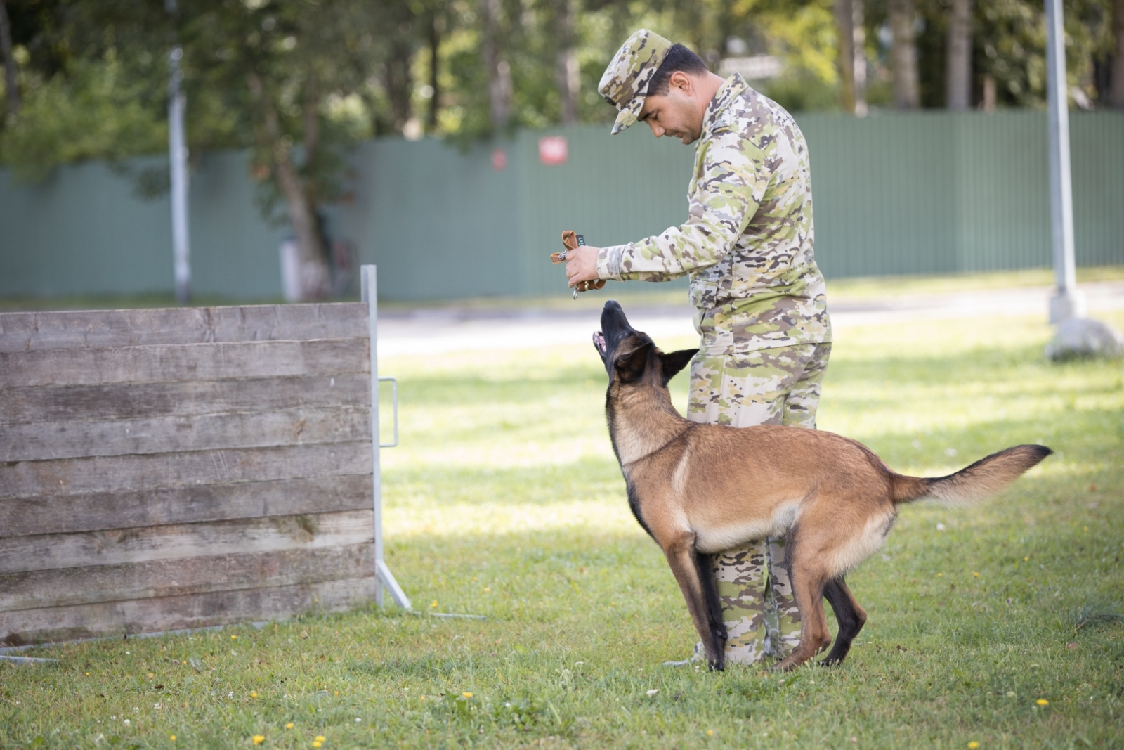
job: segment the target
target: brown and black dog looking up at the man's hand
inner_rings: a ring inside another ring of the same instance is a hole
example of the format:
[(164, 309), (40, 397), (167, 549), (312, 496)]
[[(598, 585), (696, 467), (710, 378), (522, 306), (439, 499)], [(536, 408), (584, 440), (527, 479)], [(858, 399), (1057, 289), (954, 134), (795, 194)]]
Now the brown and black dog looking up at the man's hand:
[(798, 667), (831, 644), (825, 597), (839, 636), (822, 663), (839, 663), (867, 621), (843, 576), (881, 546), (898, 505), (981, 499), (1052, 453), (1016, 445), (948, 477), (906, 477), (830, 432), (685, 419), (671, 405), (668, 381), (698, 350), (661, 352), (614, 300), (605, 304), (593, 344), (609, 373), (605, 410), (628, 505), (663, 550), (711, 669), (724, 668), (726, 640), (711, 554), (787, 535), (803, 630), (799, 645), (774, 668)]

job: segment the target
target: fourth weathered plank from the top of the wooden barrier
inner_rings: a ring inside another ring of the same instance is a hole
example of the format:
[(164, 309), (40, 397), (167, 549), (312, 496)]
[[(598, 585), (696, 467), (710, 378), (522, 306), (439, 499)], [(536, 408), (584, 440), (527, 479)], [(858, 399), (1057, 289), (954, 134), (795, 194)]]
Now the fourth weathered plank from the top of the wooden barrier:
[(311, 445), (356, 440), (371, 440), (369, 408), (40, 422), (0, 428), (0, 461)]

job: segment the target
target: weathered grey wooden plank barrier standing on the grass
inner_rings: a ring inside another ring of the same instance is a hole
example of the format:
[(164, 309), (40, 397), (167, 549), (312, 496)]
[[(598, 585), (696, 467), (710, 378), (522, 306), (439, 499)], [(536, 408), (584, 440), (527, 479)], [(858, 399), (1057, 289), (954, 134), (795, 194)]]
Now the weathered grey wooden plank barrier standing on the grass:
[(0, 647), (374, 599), (373, 319), (0, 314)]

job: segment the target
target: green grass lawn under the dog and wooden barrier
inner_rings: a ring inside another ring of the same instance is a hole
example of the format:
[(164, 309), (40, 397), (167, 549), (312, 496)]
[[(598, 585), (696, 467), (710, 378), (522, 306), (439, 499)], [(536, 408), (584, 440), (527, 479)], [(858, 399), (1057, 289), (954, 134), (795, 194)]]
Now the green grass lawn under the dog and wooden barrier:
[(696, 636), (628, 513), (592, 346), (400, 358), (388, 561), (417, 609), (487, 620), (370, 608), (40, 650), (58, 662), (0, 662), (0, 747), (1124, 747), (1124, 368), (1049, 364), (1049, 336), (837, 332), (821, 428), (892, 468), (1058, 452), (977, 507), (904, 507), (849, 578), (869, 622), (840, 668), (661, 666)]

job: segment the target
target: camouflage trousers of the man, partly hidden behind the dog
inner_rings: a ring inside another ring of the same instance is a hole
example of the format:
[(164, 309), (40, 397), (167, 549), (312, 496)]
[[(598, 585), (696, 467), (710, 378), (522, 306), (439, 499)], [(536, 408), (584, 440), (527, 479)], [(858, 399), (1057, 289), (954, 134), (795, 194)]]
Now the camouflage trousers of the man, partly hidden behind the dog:
[[(831, 351), (831, 344), (801, 344), (744, 354), (699, 352), (691, 361), (687, 418), (732, 427), (815, 430)], [(713, 564), (728, 634), (726, 661), (756, 663), (788, 656), (800, 642), (800, 614), (788, 580), (785, 540), (756, 540), (715, 554)]]

